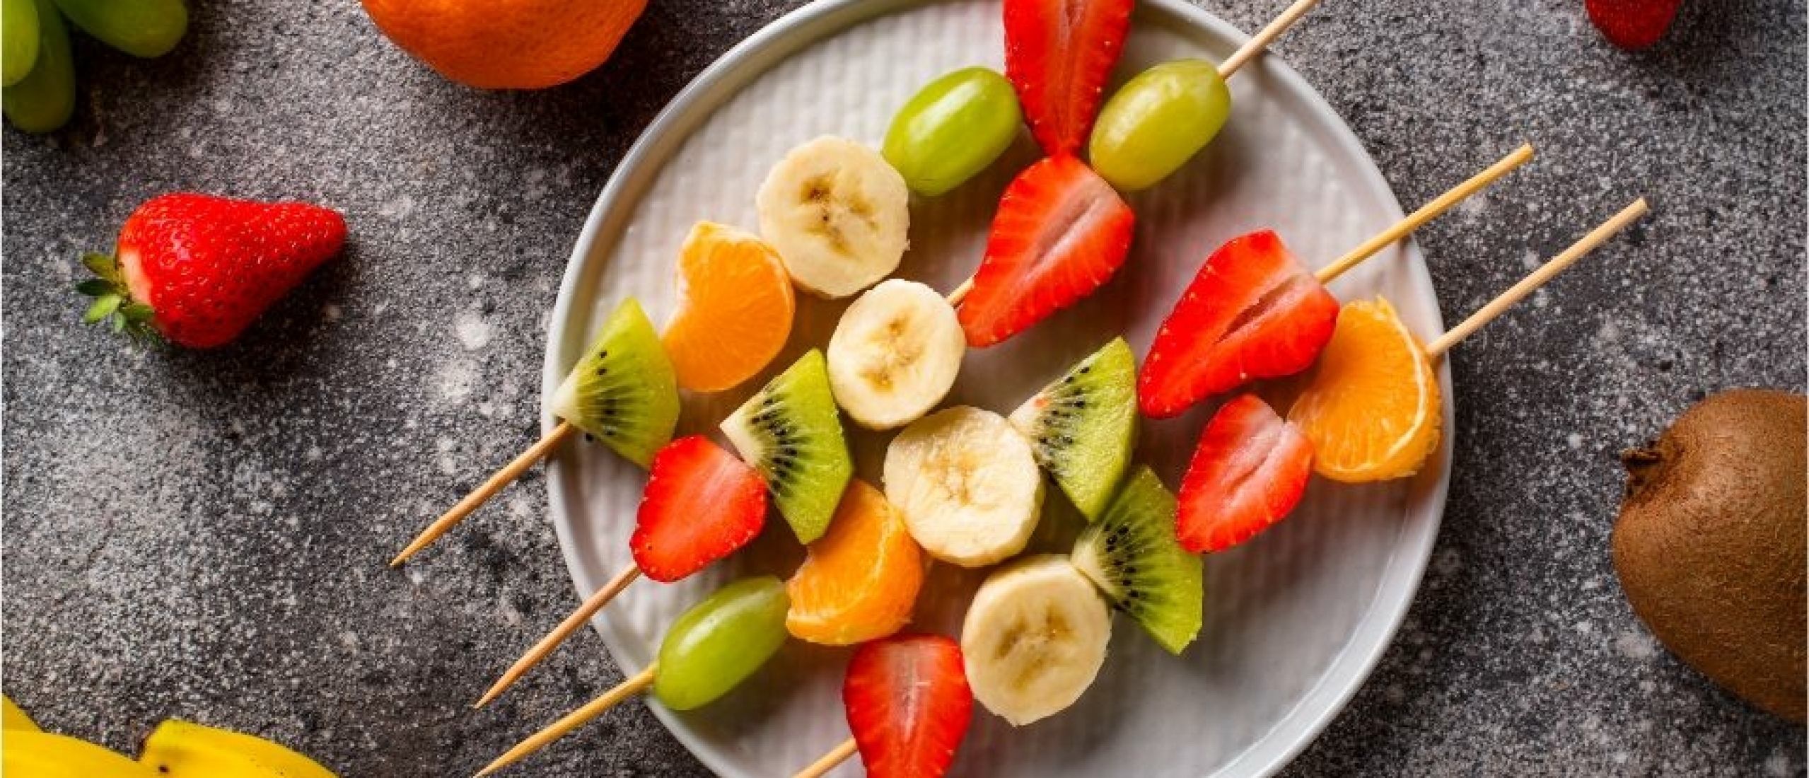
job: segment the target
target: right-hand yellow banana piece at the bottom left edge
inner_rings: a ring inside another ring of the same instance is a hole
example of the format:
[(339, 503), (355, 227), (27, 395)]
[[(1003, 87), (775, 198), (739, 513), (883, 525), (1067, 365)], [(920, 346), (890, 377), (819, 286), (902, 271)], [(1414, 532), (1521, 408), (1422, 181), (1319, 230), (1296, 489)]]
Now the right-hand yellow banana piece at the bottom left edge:
[(137, 760), (161, 778), (335, 778), (270, 740), (179, 718), (159, 724)]

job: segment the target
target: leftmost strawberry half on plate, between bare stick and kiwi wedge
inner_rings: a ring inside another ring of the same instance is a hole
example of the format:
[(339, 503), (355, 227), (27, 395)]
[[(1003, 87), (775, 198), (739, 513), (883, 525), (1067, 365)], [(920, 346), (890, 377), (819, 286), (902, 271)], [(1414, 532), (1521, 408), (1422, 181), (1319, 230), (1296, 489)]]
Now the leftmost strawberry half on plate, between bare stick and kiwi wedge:
[(653, 454), (640, 496), (635, 566), (673, 583), (745, 546), (767, 523), (767, 485), (760, 472), (700, 434), (678, 438)]

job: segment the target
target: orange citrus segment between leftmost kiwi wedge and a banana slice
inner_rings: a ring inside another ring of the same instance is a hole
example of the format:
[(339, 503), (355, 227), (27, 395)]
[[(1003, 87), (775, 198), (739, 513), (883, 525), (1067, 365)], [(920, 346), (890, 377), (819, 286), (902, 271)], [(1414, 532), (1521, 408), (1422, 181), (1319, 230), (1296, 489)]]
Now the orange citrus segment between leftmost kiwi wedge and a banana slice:
[(666, 353), (678, 385), (722, 391), (760, 373), (791, 337), (791, 277), (758, 237), (696, 223), (678, 250), (678, 311)]

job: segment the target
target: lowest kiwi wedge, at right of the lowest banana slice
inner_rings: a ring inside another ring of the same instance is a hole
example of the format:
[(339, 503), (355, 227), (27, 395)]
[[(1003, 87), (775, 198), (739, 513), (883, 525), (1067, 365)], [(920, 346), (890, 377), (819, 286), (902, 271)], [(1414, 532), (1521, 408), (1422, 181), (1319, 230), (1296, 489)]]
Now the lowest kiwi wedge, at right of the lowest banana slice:
[(1174, 494), (1138, 467), (1105, 516), (1075, 541), (1071, 559), (1113, 608), (1143, 624), (1169, 653), (1181, 653), (1205, 621), (1205, 572), (1174, 539)]

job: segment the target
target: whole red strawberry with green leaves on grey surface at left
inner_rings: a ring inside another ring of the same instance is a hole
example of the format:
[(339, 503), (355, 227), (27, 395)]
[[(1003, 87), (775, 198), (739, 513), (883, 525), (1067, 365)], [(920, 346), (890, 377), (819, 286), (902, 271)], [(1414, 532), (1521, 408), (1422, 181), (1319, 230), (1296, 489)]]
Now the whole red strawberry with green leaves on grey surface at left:
[(116, 257), (81, 259), (98, 279), (89, 322), (197, 349), (235, 337), (346, 244), (346, 219), (306, 203), (166, 194), (132, 212)]

